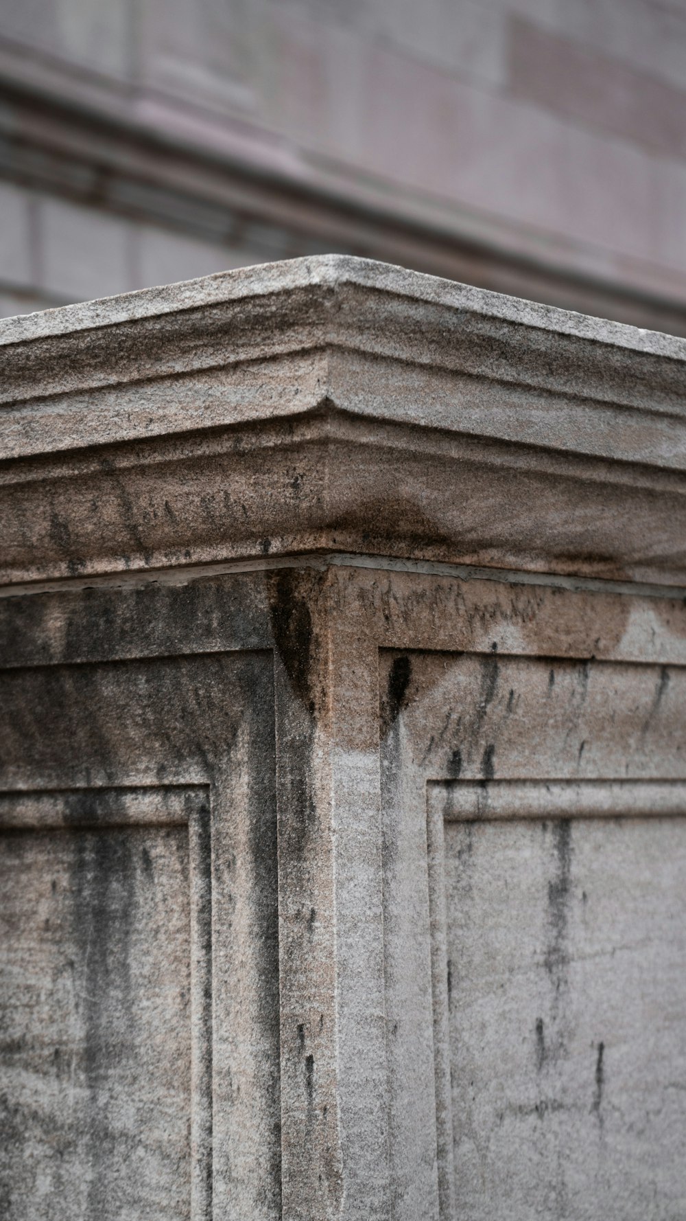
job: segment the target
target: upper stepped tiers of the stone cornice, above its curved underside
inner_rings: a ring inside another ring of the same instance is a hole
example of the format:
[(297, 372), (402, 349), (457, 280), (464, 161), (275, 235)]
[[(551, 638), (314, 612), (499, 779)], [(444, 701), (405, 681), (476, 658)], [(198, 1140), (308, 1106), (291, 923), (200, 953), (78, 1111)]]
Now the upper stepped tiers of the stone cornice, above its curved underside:
[(686, 339), (343, 255), (0, 324), (0, 459), (336, 409), (686, 471)]

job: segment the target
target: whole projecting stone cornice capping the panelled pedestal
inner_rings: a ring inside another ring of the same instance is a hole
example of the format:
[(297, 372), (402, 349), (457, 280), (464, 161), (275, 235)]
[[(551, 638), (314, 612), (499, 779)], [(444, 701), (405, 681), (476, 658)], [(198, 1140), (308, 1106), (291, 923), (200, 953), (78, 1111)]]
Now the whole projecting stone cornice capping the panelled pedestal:
[(685, 339), (325, 256), (0, 350), (5, 580), (337, 548), (686, 580)]

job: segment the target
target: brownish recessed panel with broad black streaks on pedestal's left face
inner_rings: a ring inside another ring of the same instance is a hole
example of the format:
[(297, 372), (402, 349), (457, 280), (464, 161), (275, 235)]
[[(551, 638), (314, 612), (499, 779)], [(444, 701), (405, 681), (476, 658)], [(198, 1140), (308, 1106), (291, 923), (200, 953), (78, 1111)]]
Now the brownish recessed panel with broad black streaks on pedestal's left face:
[[(203, 862), (183, 802), (139, 792), (0, 803), (7, 1221), (205, 1216), (192, 1208)], [(209, 817), (201, 794), (193, 819)]]

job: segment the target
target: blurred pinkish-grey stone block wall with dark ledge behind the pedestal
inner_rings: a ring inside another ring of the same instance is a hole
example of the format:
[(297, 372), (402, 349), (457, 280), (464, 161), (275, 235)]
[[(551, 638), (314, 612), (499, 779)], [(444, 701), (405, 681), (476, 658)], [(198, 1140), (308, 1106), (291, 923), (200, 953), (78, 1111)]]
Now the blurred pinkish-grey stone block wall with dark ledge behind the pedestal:
[(0, 309), (352, 252), (686, 333), (686, 0), (2, 0)]

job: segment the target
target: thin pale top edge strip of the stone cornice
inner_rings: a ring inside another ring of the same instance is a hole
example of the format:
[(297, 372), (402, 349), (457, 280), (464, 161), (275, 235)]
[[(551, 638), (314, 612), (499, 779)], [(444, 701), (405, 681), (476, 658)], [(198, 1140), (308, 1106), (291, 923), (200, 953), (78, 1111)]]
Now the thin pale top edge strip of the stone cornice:
[(5, 319), (0, 321), (0, 346), (6, 348), (150, 319), (167, 317), (172, 324), (192, 310), (240, 302), (248, 305), (251, 299), (287, 298), (294, 293), (306, 298), (308, 289), (315, 303), (321, 299), (322, 289), (328, 299), (336, 299), (347, 288), (404, 298), (408, 305), (425, 303), (461, 315), (498, 319), (554, 335), (686, 360), (686, 339), (676, 336), (337, 254), (239, 267), (199, 280)]

